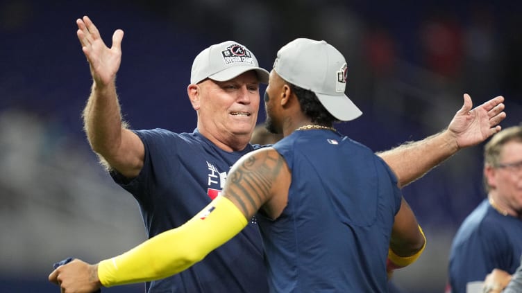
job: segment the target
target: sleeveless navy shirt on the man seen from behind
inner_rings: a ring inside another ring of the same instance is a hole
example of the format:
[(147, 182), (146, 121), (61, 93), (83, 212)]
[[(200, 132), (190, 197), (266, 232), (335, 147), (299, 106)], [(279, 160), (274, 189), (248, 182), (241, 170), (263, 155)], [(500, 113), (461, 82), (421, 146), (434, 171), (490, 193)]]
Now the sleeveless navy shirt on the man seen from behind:
[(330, 130), (296, 131), (273, 148), (292, 184), (276, 220), (258, 215), (270, 292), (388, 292), (402, 195), (386, 163)]

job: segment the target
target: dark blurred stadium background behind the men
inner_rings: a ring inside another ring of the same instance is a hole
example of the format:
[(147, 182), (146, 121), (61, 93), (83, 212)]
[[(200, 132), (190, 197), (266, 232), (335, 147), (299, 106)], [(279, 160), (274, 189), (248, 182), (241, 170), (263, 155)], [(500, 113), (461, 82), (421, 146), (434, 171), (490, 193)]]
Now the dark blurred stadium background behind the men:
[[(89, 15), (108, 45), (124, 30), (117, 86), (135, 129), (192, 132), (190, 66), (210, 44), (233, 39), (271, 69), (292, 39), (325, 39), (344, 53), (347, 94), (364, 112), (336, 127), (378, 151), (443, 130), (464, 93), (475, 105), (505, 96), (503, 127), (521, 122), (522, 3), (454, 2), (0, 1), (0, 292), (58, 292), (47, 283), (52, 263), (96, 262), (145, 238), (135, 201), (82, 132), (92, 81), (78, 17)], [(404, 292), (444, 291), (451, 239), (485, 197), (482, 147), (404, 188), (428, 238), (395, 276)]]

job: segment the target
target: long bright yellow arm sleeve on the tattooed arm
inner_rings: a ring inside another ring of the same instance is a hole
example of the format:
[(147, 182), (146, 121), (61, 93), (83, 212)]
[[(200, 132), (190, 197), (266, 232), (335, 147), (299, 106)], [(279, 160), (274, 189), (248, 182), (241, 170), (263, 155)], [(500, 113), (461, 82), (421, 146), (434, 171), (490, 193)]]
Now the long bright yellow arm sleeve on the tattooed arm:
[(177, 274), (233, 238), (247, 223), (233, 202), (219, 196), (182, 226), (102, 260), (98, 265), (101, 285), (139, 283)]

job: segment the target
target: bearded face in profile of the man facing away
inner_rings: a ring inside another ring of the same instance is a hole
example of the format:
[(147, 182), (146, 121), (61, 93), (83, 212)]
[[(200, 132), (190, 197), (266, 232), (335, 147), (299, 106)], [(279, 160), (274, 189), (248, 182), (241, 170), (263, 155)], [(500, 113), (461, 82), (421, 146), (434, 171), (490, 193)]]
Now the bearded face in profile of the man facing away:
[(279, 117), (279, 105), (280, 95), (282, 94), (283, 87), (286, 85), (285, 81), (278, 76), (276, 71), (270, 72), (269, 85), (267, 91), (264, 94), (264, 109), (267, 112), (267, 119), (264, 122), (265, 127), (271, 133), (282, 134), (283, 123)]

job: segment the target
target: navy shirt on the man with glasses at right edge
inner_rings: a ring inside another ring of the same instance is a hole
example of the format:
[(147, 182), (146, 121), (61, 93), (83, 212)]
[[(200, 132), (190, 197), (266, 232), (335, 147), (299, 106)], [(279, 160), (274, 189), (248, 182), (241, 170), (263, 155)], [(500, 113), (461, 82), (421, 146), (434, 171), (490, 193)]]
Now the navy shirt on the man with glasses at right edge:
[(520, 265), (522, 221), (501, 215), (485, 199), (466, 217), (450, 251), (452, 293), (466, 292), (466, 284), (484, 281), (491, 270), (513, 274)]

